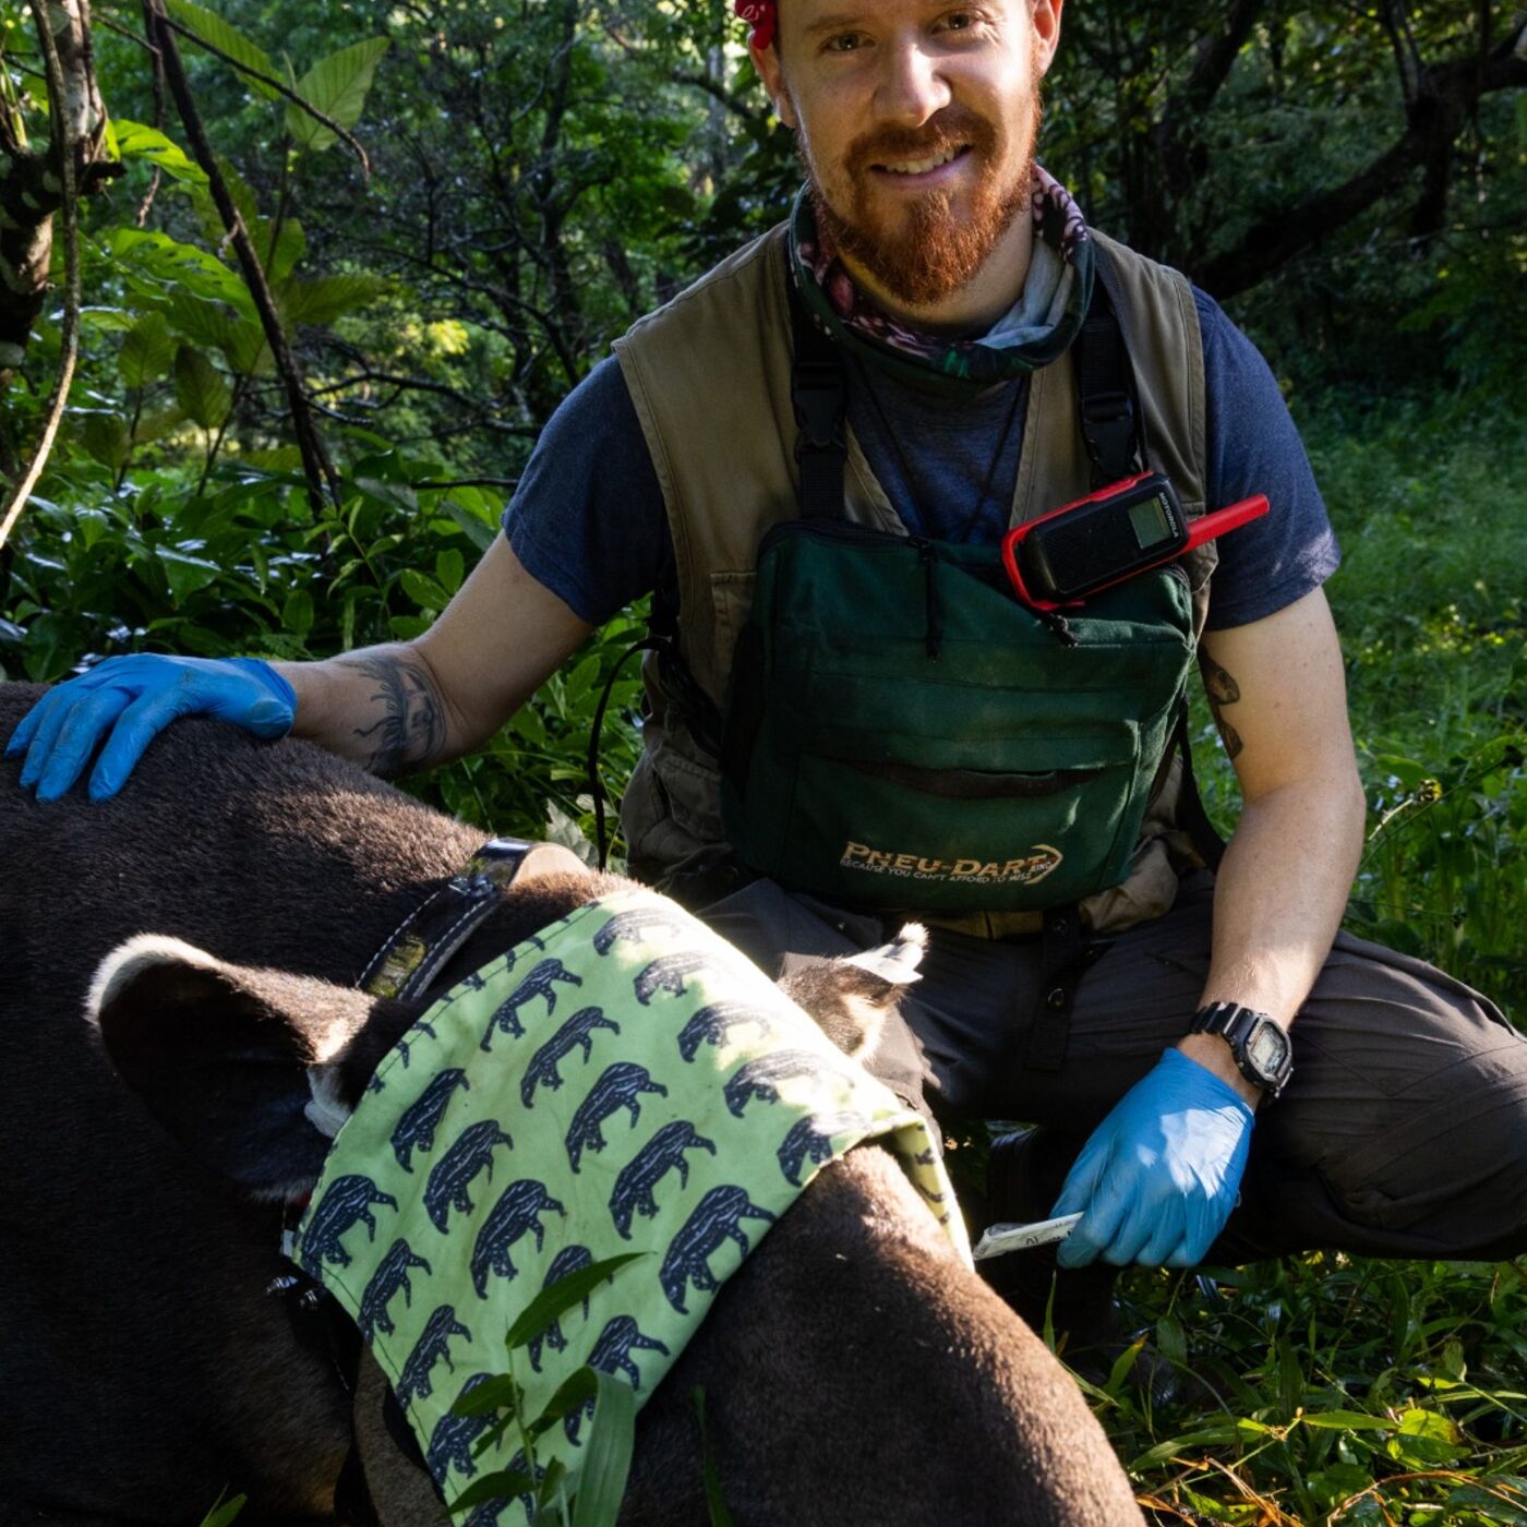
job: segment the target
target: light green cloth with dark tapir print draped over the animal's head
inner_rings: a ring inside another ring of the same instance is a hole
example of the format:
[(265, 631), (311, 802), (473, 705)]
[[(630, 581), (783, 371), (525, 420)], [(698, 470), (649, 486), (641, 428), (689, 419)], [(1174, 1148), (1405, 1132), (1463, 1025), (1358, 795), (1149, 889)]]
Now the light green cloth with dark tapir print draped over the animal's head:
[[(547, 1284), (647, 1254), (516, 1353), (531, 1417), (585, 1364), (640, 1403), (822, 1165), (873, 1136), (968, 1255), (922, 1119), (695, 918), (626, 892), (409, 1029), (339, 1132), (295, 1255), (354, 1316), (450, 1503), (524, 1466), (515, 1428), (473, 1458), (487, 1419), (449, 1412), (504, 1371), (504, 1333)], [(582, 1412), (553, 1428), (538, 1466), (576, 1469), (586, 1429)]]

